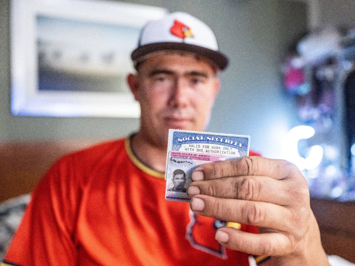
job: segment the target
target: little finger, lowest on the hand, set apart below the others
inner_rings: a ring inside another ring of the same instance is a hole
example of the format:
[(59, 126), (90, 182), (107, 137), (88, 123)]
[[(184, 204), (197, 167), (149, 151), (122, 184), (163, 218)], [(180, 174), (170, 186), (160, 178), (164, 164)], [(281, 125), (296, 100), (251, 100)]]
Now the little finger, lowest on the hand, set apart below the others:
[(282, 256), (293, 251), (291, 240), (282, 233), (253, 234), (222, 227), (215, 239), (227, 248), (253, 255)]

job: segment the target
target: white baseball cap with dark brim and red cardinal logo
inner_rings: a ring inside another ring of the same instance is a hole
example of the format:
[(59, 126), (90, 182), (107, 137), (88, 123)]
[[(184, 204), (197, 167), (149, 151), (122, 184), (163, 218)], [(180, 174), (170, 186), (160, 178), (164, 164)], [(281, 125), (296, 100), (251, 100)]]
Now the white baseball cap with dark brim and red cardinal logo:
[(205, 56), (220, 70), (228, 65), (228, 58), (218, 50), (211, 28), (183, 12), (171, 13), (160, 20), (150, 21), (142, 28), (138, 48), (131, 54), (135, 67), (149, 53), (161, 50), (183, 50)]

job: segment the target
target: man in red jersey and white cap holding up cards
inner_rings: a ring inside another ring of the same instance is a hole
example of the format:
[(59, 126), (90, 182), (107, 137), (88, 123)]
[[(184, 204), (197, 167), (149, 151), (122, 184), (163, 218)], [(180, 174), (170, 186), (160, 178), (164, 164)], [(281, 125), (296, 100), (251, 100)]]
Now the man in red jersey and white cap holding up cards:
[(263, 265), (328, 265), (307, 183), (286, 161), (200, 165), (190, 206), (164, 199), (168, 129), (205, 129), (228, 62), (211, 29), (170, 14), (144, 27), (132, 59), (139, 131), (56, 162), (32, 194), (6, 263), (244, 266), (249, 253), (271, 256)]

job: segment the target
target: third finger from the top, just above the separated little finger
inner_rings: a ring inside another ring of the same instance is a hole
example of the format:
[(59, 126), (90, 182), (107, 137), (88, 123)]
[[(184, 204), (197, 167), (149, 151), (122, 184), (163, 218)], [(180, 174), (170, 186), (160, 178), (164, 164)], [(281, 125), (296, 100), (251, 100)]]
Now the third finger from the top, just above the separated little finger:
[(190, 206), (196, 214), (223, 221), (287, 232), (292, 229), (289, 224), (293, 221), (290, 211), (273, 203), (198, 195), (191, 199)]

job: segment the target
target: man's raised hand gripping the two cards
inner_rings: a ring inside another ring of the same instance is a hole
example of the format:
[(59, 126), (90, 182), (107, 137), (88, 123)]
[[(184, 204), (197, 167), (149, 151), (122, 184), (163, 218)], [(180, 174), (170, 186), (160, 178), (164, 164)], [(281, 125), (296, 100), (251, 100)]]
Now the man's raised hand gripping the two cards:
[(259, 234), (223, 227), (215, 238), (230, 249), (271, 255), (263, 265), (329, 265), (308, 185), (288, 161), (242, 157), (200, 165), (188, 189), (193, 212), (250, 224)]

